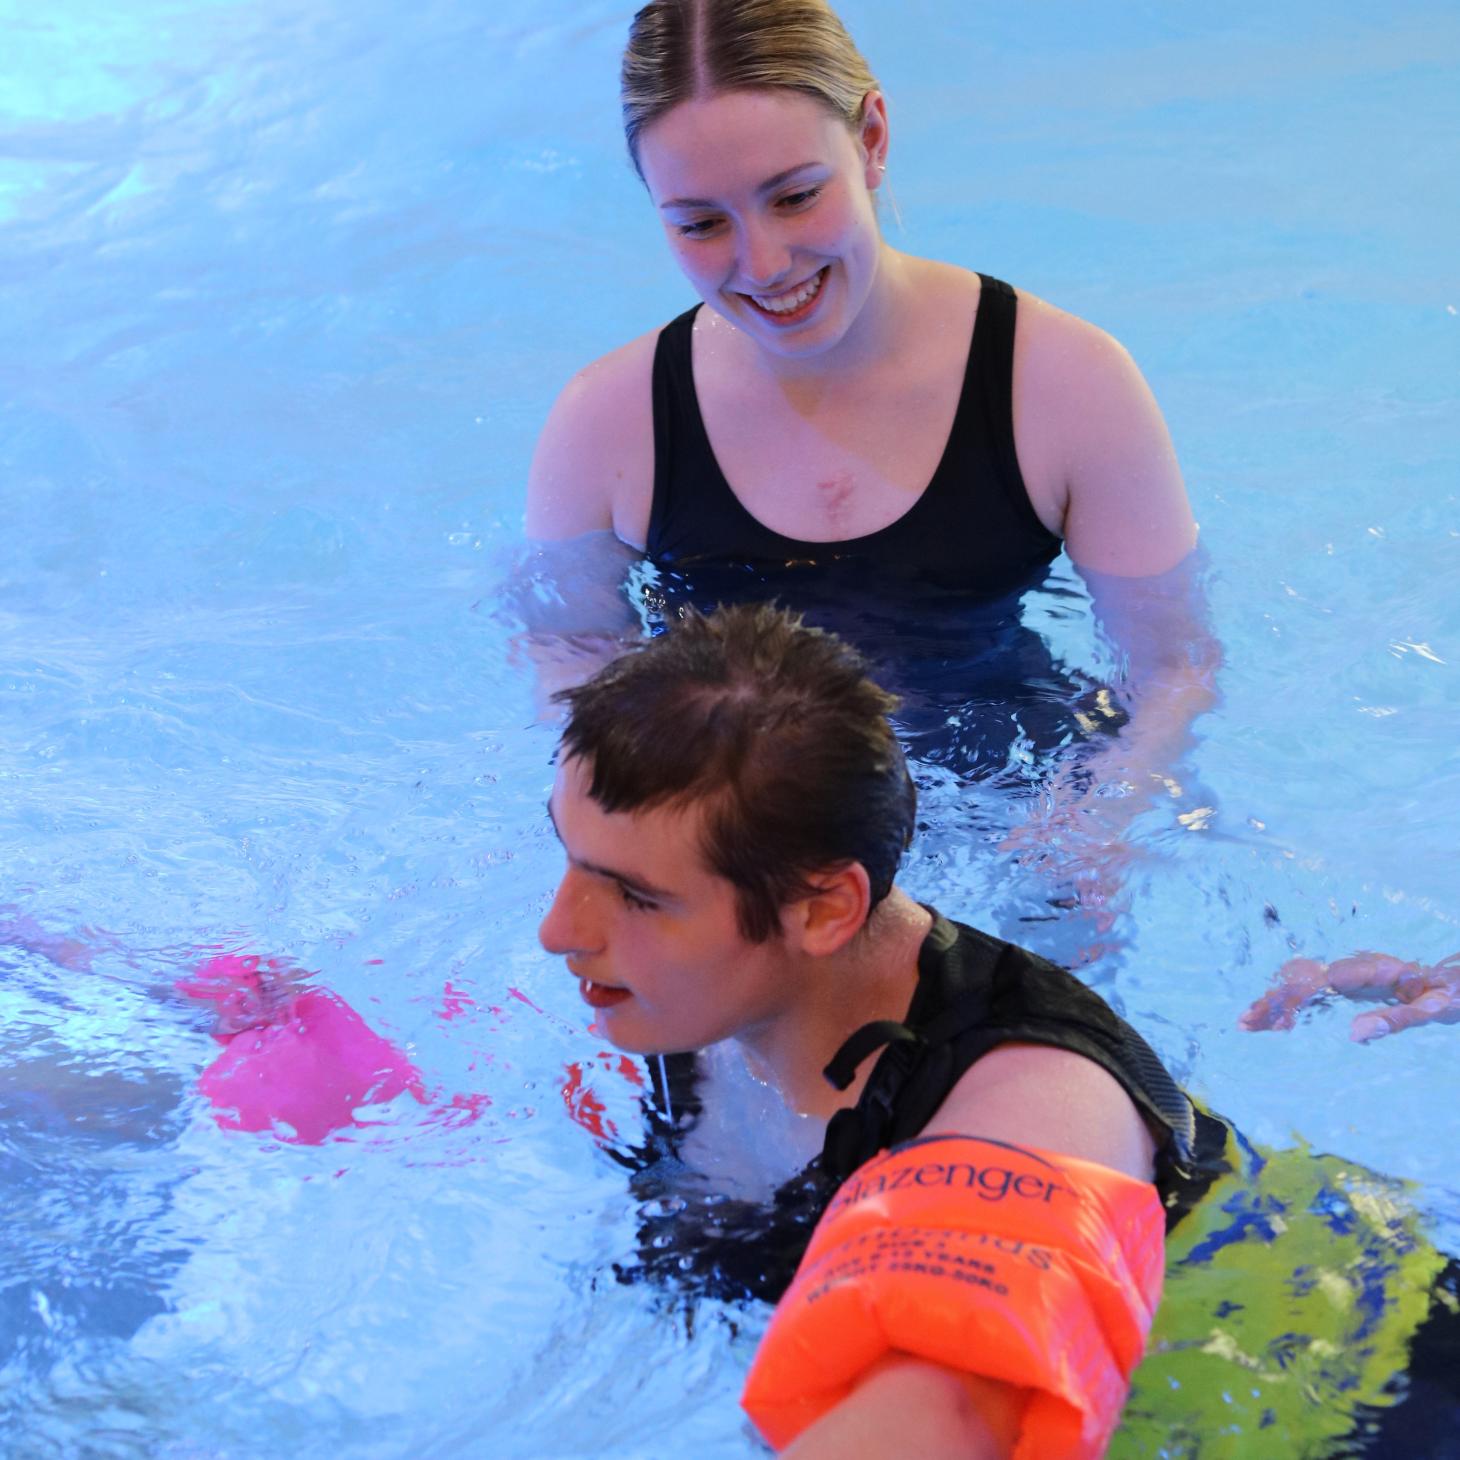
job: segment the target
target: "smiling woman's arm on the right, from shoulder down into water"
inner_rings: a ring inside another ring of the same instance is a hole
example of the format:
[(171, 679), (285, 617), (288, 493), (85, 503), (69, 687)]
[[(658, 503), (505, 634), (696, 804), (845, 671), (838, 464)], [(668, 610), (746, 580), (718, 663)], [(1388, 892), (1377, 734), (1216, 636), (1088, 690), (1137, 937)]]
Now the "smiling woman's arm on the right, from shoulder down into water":
[(1113, 689), (1126, 714), (1069, 762), (1016, 844), (1101, 899), (1129, 822), (1180, 791), (1191, 723), (1218, 701), (1222, 647), (1171, 435), (1130, 355), (1104, 330), (1021, 298), (1015, 437), (1029, 499), (1064, 537), (1118, 656)]

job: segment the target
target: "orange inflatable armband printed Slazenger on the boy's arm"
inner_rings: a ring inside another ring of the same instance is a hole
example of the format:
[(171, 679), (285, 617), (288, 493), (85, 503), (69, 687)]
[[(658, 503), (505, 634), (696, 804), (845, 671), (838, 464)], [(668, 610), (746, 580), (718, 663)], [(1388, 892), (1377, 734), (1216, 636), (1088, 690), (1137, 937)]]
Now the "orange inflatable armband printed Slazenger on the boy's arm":
[(1148, 1181), (975, 1136), (910, 1142), (837, 1191), (740, 1403), (780, 1450), (885, 1353), (911, 1353), (1031, 1390), (1015, 1460), (1095, 1460), (1164, 1260)]

